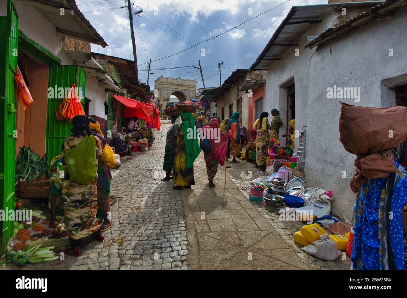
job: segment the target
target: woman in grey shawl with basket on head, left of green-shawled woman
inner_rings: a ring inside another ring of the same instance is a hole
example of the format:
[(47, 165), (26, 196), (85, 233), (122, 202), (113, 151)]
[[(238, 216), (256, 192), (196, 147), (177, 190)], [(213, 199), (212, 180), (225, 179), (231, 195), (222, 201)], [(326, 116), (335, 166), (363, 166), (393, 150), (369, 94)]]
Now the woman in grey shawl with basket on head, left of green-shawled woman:
[(168, 181), (173, 178), (171, 177), (171, 171), (174, 168), (175, 145), (177, 144), (179, 125), (181, 124), (179, 119), (181, 112), (176, 107), (166, 109), (165, 114), (168, 116), (168, 119), (171, 120), (172, 125), (167, 131), (164, 149), (164, 165), (162, 167), (165, 171), (165, 178), (162, 178), (161, 181)]

